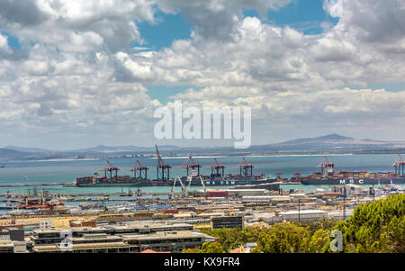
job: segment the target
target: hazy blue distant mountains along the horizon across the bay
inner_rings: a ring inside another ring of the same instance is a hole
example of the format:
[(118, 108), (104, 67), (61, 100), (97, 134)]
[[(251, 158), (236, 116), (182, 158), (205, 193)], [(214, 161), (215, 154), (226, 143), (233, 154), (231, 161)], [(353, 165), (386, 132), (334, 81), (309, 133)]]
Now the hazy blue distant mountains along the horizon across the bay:
[[(105, 146), (99, 145), (87, 149), (53, 151), (40, 148), (23, 148), (9, 146), (0, 149), (0, 161), (38, 160), (63, 158), (122, 158), (128, 155), (155, 155), (155, 147), (139, 146)], [(339, 134), (329, 134), (314, 138), (286, 140), (266, 145), (253, 145), (248, 149), (233, 147), (178, 147), (175, 145), (159, 145), (162, 156), (193, 156), (220, 155), (246, 156), (251, 154), (302, 154), (302, 153), (392, 153), (405, 151), (405, 141), (358, 140)]]

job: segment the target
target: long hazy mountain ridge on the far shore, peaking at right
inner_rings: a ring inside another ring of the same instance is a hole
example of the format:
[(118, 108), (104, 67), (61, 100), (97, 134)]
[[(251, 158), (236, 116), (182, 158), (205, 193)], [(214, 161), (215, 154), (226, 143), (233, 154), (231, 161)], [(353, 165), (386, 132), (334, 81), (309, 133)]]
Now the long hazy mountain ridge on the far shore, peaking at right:
[[(113, 155), (125, 155), (134, 153), (147, 153), (154, 155), (155, 147), (139, 147), (133, 145), (125, 146), (105, 146), (98, 145), (86, 149), (73, 149), (73, 150), (48, 150), (43, 151), (41, 148), (23, 148), (14, 147), (15, 149), (0, 149), (0, 159), (4, 158), (23, 158), (23, 159), (35, 159), (35, 158), (72, 158), (72, 157), (105, 157)], [(355, 138), (332, 133), (320, 137), (302, 138), (295, 140), (286, 140), (279, 143), (266, 144), (266, 145), (253, 145), (243, 152), (254, 153), (275, 153), (275, 152), (303, 152), (303, 151), (351, 151), (351, 150), (367, 150), (367, 149), (395, 149), (405, 148), (405, 141), (383, 141), (383, 140), (358, 140)], [(18, 150), (20, 149), (20, 150)], [(27, 149), (28, 151), (21, 151)], [(40, 151), (33, 152), (38, 149)], [(159, 145), (159, 149), (162, 151), (174, 151), (175, 153), (222, 153), (224, 155), (232, 155), (240, 152), (238, 149), (232, 147), (216, 147), (207, 149), (204, 147), (179, 147), (175, 145)]]

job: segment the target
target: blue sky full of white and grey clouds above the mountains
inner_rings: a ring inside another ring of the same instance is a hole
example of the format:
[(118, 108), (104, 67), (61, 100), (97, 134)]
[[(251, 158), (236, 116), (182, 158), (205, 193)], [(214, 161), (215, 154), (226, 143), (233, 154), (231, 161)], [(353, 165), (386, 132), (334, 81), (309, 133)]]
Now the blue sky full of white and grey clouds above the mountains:
[(161, 106), (252, 108), (252, 141), (404, 140), (401, 0), (4, 0), (0, 146), (157, 140)]

